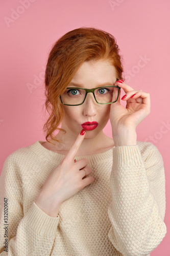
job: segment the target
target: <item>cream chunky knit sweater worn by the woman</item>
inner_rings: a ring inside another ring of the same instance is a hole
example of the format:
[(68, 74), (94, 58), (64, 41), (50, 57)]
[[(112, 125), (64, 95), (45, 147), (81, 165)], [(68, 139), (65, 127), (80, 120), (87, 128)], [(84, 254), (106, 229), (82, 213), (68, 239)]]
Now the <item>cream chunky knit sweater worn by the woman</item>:
[(165, 176), (157, 147), (137, 141), (75, 157), (89, 160), (94, 182), (63, 202), (57, 217), (50, 217), (35, 200), (64, 155), (47, 150), (43, 142), (19, 148), (4, 162), (0, 254), (150, 255), (166, 234)]

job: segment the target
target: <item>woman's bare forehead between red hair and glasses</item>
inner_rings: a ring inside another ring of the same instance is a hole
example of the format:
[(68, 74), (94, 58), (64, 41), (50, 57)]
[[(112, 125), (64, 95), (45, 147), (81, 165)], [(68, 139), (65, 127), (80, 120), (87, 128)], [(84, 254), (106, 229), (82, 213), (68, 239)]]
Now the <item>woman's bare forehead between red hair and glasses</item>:
[(116, 81), (116, 70), (108, 60), (85, 61), (72, 78), (72, 83), (79, 83), (82, 86), (98, 86), (99, 84)]

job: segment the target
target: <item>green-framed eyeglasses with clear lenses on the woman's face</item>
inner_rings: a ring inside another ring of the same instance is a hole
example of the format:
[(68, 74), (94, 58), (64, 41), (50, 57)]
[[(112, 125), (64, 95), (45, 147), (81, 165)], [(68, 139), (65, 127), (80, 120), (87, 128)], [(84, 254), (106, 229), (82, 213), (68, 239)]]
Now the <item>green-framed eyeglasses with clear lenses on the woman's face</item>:
[(60, 99), (64, 105), (78, 106), (84, 103), (87, 93), (92, 93), (98, 104), (111, 104), (117, 101), (119, 91), (120, 87), (118, 86), (97, 87), (92, 89), (68, 87), (66, 91), (60, 95)]

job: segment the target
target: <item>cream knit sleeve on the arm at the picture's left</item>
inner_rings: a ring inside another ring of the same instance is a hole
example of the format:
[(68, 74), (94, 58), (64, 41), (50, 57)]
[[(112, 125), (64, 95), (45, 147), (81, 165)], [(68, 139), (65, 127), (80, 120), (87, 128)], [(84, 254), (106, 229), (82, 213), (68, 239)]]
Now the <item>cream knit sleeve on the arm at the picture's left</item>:
[(0, 177), (0, 255), (50, 255), (59, 216), (50, 217), (33, 202), (23, 216), (22, 181), (11, 156)]

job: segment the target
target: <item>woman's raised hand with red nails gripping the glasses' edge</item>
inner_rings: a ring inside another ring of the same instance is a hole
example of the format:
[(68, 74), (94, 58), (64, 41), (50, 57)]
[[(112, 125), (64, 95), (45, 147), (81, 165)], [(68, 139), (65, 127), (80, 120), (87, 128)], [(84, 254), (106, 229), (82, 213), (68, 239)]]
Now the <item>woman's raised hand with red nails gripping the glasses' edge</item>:
[[(118, 131), (126, 128), (135, 130), (136, 126), (150, 114), (151, 103), (149, 93), (134, 90), (125, 82), (116, 81), (115, 85), (122, 88), (127, 95), (124, 98), (124, 101), (127, 101), (126, 108), (120, 104), (120, 93), (118, 100), (110, 107), (112, 132), (117, 136)], [(133, 98), (131, 98), (132, 95), (134, 95)]]

